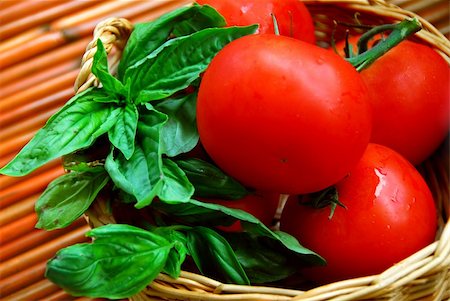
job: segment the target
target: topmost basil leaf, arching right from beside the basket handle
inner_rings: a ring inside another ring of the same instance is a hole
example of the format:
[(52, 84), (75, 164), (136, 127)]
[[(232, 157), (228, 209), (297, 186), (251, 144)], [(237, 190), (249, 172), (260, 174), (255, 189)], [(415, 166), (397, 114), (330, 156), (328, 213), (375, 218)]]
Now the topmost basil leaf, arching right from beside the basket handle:
[(119, 64), (118, 76), (161, 46), (171, 35), (191, 34), (208, 27), (225, 26), (225, 20), (213, 8), (193, 5), (168, 12), (147, 23), (136, 24)]

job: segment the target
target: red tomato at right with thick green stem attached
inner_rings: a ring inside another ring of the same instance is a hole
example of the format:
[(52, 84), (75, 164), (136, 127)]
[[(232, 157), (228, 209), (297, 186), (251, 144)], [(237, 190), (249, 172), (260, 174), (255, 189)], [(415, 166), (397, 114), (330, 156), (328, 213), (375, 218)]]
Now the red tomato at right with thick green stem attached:
[[(350, 43), (356, 45), (357, 39)], [(374, 109), (371, 141), (391, 147), (413, 164), (421, 163), (448, 135), (448, 63), (428, 46), (403, 41), (361, 76)]]

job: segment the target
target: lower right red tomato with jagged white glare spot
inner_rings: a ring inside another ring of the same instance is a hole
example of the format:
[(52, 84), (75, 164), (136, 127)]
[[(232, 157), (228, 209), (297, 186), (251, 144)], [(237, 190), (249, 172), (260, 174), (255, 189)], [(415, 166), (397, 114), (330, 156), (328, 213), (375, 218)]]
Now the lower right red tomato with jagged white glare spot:
[(378, 274), (434, 240), (436, 208), (417, 170), (397, 152), (369, 144), (350, 175), (336, 185), (340, 202), (314, 209), (291, 197), (280, 228), (327, 260), (307, 277), (329, 282)]

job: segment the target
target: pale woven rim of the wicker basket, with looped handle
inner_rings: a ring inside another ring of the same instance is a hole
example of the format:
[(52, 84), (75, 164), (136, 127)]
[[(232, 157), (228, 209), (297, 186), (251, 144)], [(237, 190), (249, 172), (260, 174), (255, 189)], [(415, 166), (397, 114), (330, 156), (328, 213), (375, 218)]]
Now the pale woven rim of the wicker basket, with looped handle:
[[(416, 33), (422, 42), (434, 47), (450, 64), (450, 42), (432, 24), (419, 15), (388, 4), (384, 0), (302, 0), (307, 6), (334, 5), (354, 11), (364, 11), (391, 20), (416, 17), (423, 30)], [(100, 22), (94, 30), (93, 40), (88, 44), (82, 58), (82, 67), (75, 81), (77, 93), (98, 81), (91, 73), (96, 41), (101, 39), (107, 52), (116, 49), (111, 58), (112, 70), (117, 67), (121, 50), (133, 30), (133, 24), (123, 18), (108, 18)], [(447, 195), (448, 197), (448, 195)], [(87, 211), (86, 217), (91, 227), (115, 223), (108, 213), (107, 205), (96, 201)], [(447, 270), (446, 270), (447, 269)], [(429, 294), (437, 298), (444, 296), (445, 281), (450, 282), (450, 220), (447, 219), (438, 240), (402, 260), (381, 274), (338, 281), (313, 288), (308, 291), (274, 288), (265, 286), (245, 286), (224, 284), (214, 279), (188, 271), (182, 271), (178, 279), (165, 274), (159, 276), (133, 300), (162, 298), (170, 300), (361, 300), (388, 295), (393, 289), (427, 276), (441, 286), (429, 287)], [(441, 291), (436, 291), (441, 287)], [(420, 292), (417, 293), (420, 297)], [(450, 298), (450, 295), (447, 296)], [(159, 300), (159, 299), (158, 299)]]

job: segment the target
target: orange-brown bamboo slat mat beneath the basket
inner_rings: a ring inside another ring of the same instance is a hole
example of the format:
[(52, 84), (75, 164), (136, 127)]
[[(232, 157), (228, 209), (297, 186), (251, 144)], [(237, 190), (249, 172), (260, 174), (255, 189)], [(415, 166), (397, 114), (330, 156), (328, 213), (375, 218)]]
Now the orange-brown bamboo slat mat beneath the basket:
[[(110, 16), (153, 19), (189, 0), (0, 0), (0, 166), (8, 162), (73, 94), (81, 56), (95, 25)], [(447, 37), (447, 0), (391, 0), (418, 12)], [(34, 202), (63, 173), (54, 161), (24, 178), (0, 176), (1, 300), (74, 298), (44, 278), (56, 250), (83, 242), (83, 219), (69, 228), (34, 228)]]

